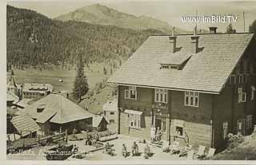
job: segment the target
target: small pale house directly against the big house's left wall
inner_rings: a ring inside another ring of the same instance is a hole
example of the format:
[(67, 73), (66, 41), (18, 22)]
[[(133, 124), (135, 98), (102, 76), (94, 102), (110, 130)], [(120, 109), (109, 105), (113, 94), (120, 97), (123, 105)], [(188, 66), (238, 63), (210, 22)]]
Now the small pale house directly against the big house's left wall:
[(118, 100), (107, 101), (103, 104), (103, 114), (109, 124), (118, 123)]

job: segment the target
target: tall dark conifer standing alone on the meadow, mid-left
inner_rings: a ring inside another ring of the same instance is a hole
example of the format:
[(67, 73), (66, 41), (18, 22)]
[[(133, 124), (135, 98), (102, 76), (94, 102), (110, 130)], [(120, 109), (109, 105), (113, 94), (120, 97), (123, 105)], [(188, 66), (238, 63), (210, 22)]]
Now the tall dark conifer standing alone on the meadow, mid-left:
[(80, 102), (82, 100), (82, 96), (86, 95), (89, 90), (89, 85), (87, 83), (87, 78), (84, 73), (84, 64), (82, 61), (82, 54), (80, 54), (80, 61), (78, 61), (78, 72), (77, 76), (74, 80), (74, 98)]

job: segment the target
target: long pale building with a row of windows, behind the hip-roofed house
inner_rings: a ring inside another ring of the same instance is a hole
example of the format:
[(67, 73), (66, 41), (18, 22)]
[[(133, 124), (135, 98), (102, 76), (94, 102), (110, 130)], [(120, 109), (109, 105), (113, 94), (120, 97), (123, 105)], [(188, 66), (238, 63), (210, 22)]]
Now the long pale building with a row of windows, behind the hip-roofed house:
[(22, 88), (22, 96), (26, 99), (38, 99), (53, 92), (51, 84), (25, 83)]

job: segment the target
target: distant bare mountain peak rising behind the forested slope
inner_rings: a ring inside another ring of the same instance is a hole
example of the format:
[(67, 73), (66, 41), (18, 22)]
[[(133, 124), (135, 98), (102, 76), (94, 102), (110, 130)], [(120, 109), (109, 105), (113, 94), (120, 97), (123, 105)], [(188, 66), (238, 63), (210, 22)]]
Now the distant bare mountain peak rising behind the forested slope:
[[(118, 26), (129, 29), (158, 29), (165, 33), (171, 33), (172, 26), (167, 22), (146, 16), (136, 17), (131, 14), (125, 14), (107, 6), (95, 4), (85, 6), (67, 14), (62, 14), (57, 18), (61, 21), (88, 22), (102, 26)], [(176, 28), (177, 33), (188, 33), (185, 30)]]

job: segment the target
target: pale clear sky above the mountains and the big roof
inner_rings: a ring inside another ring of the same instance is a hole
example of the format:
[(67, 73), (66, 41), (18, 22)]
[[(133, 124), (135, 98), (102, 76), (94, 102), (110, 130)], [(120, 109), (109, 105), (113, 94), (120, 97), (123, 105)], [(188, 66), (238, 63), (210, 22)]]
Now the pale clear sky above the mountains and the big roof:
[(44, 0), (44, 1), (9, 1), (11, 6), (36, 10), (38, 13), (44, 14), (49, 18), (57, 17), (70, 11), (81, 8), (82, 6), (90, 6), (95, 3), (113, 8), (126, 14), (135, 16), (148, 16), (157, 18), (164, 22), (168, 22), (171, 26), (177, 26), (181, 29), (192, 31), (195, 23), (182, 22), (182, 16), (194, 16), (196, 10), (198, 16), (238, 16), (237, 22), (225, 23), (198, 23), (199, 29), (208, 29), (209, 26), (217, 26), (219, 32), (225, 32), (226, 26), (232, 23), (237, 32), (244, 32), (243, 28), (243, 12), (245, 12), (246, 32), (248, 27), (256, 19), (256, 1), (161, 1), (161, 0), (94, 0), (94, 1), (64, 1), (64, 0)]

